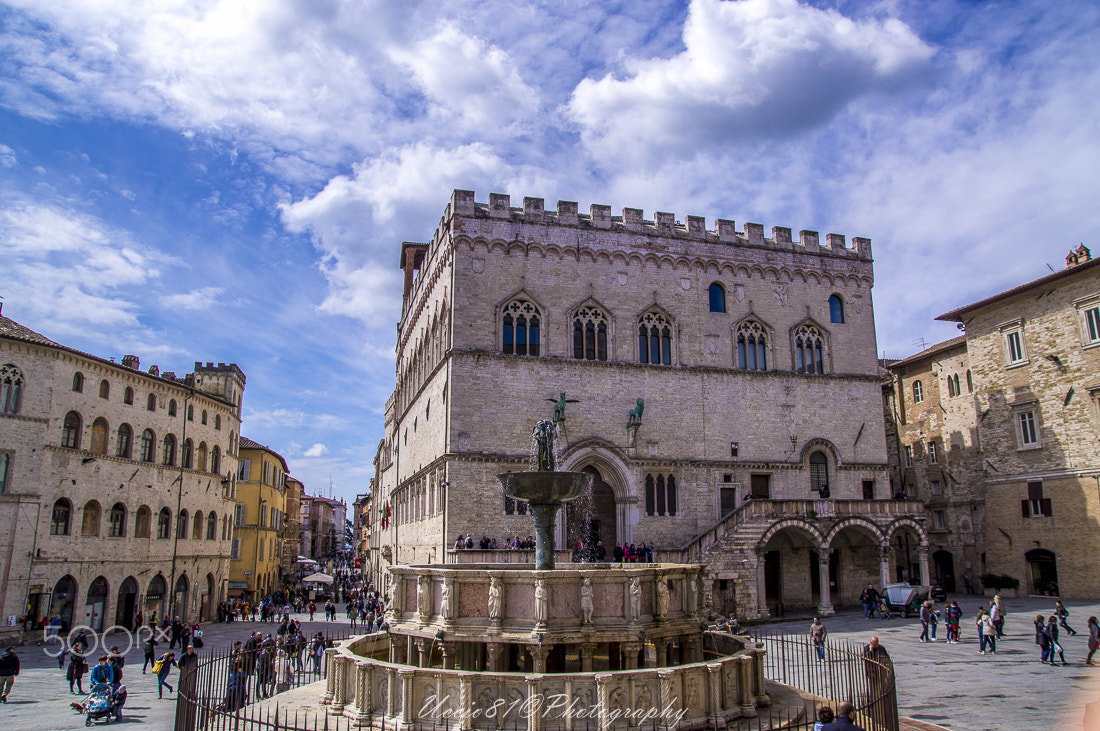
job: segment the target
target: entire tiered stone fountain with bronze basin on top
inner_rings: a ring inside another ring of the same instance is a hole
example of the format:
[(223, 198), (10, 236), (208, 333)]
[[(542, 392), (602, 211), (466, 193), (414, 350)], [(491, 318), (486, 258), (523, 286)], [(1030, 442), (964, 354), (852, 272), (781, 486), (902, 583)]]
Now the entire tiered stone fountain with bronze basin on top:
[(707, 630), (702, 566), (554, 566), (558, 511), (593, 477), (556, 469), (554, 422), (538, 422), (532, 442), (535, 468), (498, 479), (535, 514), (534, 566), (391, 566), (388, 631), (328, 650), (322, 702), (399, 731), (636, 730), (642, 717), (626, 711), (662, 729), (724, 729), (769, 706), (762, 647)]

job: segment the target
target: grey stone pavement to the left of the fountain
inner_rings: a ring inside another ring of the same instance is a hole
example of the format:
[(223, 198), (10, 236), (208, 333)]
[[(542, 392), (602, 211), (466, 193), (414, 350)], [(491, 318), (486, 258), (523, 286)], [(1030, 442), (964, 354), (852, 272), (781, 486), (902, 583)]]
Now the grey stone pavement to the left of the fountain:
[[(318, 612), (317, 617), (322, 617)], [(346, 633), (351, 625), (346, 621), (337, 622), (309, 622), (308, 614), (294, 614), (298, 621), (302, 622), (302, 631), (307, 634), (314, 632)], [(344, 620), (343, 612), (338, 617)], [(265, 635), (275, 633), (278, 624), (265, 622), (230, 622), (204, 624), (205, 647), (201, 655), (207, 655), (211, 650), (223, 650), (229, 647), (237, 640), (245, 640), (250, 631), (260, 630)], [(120, 651), (125, 651), (127, 636), (124, 634), (111, 634), (108, 638), (108, 646), (118, 644)], [(82, 700), (84, 696), (69, 695), (68, 680), (65, 679), (65, 672), (57, 668), (57, 661), (46, 654), (48, 645), (24, 645), (16, 647), (21, 671), (15, 684), (12, 687), (8, 702), (0, 706), (0, 728), (12, 731), (64, 731), (66, 729), (82, 729), (84, 717), (77, 715), (69, 704), (74, 700)], [(157, 654), (167, 651), (167, 643), (157, 647)], [(54, 653), (56, 654), (56, 653)], [(95, 664), (95, 658), (101, 652), (90, 653), (90, 664)], [(144, 724), (146, 728), (156, 731), (168, 731), (173, 727), (176, 713), (175, 694), (164, 694), (164, 700), (156, 697), (156, 677), (150, 672), (142, 675), (141, 666), (144, 653), (136, 644), (124, 653), (127, 666), (123, 669), (122, 682), (129, 691), (127, 705), (122, 709), (122, 721), (112, 721), (111, 728), (127, 728), (129, 726)], [(178, 656), (179, 651), (176, 651)], [(178, 673), (173, 668), (168, 684), (176, 686)], [(88, 675), (84, 676), (84, 689), (88, 689)], [(102, 724), (97, 724), (102, 726)]]

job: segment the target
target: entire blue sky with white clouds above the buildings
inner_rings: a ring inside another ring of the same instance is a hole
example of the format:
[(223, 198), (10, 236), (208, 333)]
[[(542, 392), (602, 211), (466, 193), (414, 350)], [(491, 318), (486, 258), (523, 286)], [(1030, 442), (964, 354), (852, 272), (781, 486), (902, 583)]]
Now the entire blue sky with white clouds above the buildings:
[(1100, 246), (1100, 7), (0, 2), (3, 313), (248, 376), (246, 436), (366, 489), (402, 241), (452, 188), (869, 236), (879, 350)]

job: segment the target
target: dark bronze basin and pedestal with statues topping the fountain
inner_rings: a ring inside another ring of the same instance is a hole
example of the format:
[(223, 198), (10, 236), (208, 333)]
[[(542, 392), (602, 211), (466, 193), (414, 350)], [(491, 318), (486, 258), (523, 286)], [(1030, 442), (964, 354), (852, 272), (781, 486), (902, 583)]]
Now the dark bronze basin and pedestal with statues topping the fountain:
[(566, 500), (592, 489), (593, 475), (583, 472), (557, 472), (557, 424), (549, 419), (535, 424), (531, 439), (536, 445), (534, 472), (507, 472), (497, 475), (504, 492), (526, 500), (535, 516), (535, 568), (553, 568), (553, 531), (558, 511)]

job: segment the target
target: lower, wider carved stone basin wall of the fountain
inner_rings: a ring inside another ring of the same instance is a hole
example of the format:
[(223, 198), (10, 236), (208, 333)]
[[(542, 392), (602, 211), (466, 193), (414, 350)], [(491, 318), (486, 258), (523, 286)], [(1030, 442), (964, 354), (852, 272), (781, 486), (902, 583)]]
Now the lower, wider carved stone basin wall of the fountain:
[[(398, 638), (399, 639), (399, 638)], [(362, 635), (327, 651), (322, 702), (358, 726), (634, 730), (719, 729), (771, 704), (762, 645), (717, 632), (701, 635), (708, 660), (614, 673), (525, 674), (413, 667), (377, 660), (391, 641)], [(532, 712), (537, 711), (537, 712)]]

